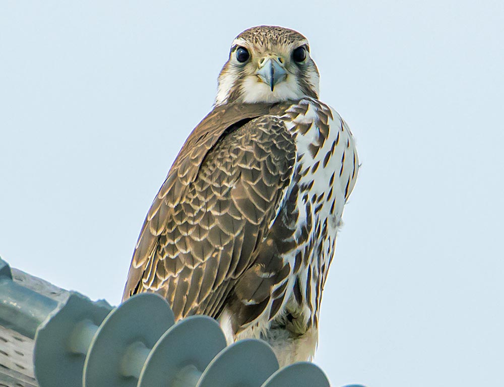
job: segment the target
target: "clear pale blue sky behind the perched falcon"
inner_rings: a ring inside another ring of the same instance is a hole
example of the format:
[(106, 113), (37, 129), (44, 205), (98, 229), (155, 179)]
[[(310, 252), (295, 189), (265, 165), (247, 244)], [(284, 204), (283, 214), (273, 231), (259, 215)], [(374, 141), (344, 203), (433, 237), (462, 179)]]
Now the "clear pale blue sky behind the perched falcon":
[(0, 254), (118, 303), (243, 29), (302, 32), (362, 168), (324, 292), (334, 386), (504, 385), (504, 3), (0, 2)]

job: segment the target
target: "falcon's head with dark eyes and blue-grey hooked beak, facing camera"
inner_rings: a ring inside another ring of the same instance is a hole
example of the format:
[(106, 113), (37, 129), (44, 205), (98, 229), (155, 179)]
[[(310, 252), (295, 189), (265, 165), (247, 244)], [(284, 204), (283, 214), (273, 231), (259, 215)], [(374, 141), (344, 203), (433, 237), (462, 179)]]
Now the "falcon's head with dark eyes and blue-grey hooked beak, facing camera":
[(319, 98), (319, 78), (303, 35), (283, 27), (252, 27), (233, 40), (215, 104)]

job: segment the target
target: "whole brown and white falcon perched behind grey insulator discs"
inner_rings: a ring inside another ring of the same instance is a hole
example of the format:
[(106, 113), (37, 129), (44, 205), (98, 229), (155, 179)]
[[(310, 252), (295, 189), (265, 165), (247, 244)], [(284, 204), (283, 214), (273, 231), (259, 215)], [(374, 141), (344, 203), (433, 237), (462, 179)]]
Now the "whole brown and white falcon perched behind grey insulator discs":
[(210, 113), (143, 223), (123, 301), (154, 292), (175, 319), (215, 318), (228, 343), (311, 361), (322, 291), (355, 185), (355, 139), (319, 99), (308, 40), (257, 26), (232, 42)]

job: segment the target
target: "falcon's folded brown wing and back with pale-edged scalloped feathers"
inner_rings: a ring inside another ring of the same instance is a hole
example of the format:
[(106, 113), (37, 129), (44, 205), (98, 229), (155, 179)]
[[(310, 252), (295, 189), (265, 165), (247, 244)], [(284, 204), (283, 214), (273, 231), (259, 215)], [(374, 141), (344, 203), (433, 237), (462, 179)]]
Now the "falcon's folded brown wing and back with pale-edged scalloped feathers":
[(218, 107), (195, 128), (148, 212), (123, 300), (155, 291), (176, 318), (220, 313), (292, 176), (295, 143), (275, 109)]

